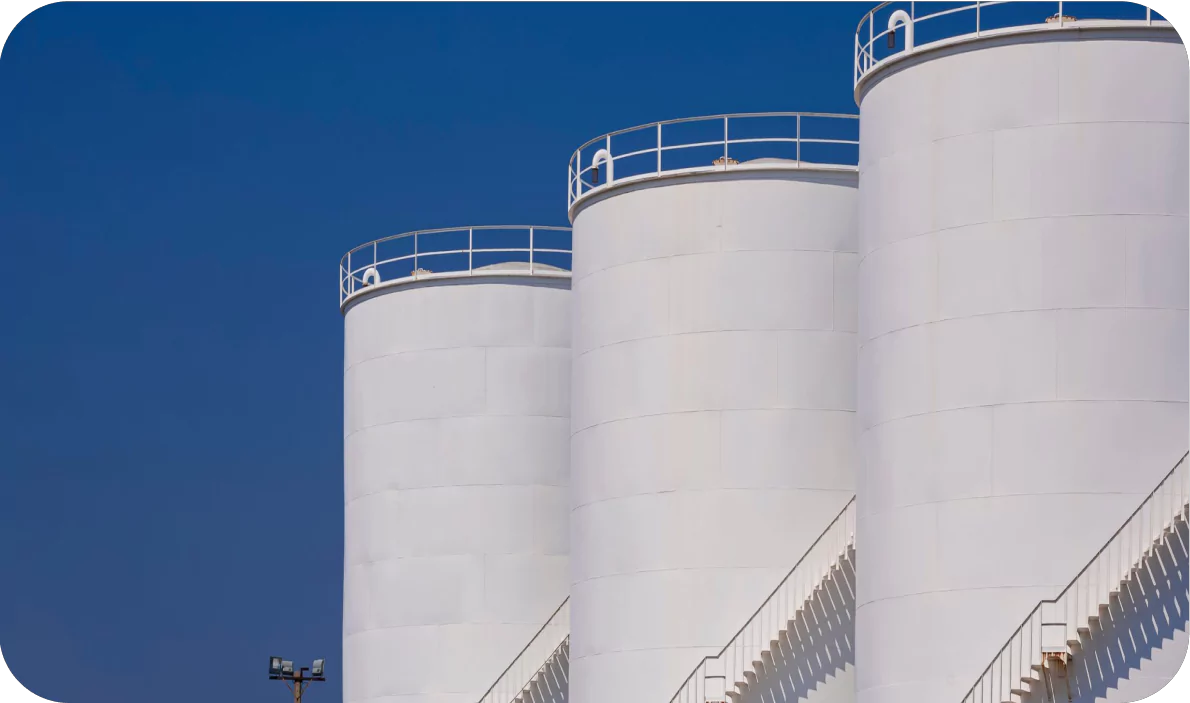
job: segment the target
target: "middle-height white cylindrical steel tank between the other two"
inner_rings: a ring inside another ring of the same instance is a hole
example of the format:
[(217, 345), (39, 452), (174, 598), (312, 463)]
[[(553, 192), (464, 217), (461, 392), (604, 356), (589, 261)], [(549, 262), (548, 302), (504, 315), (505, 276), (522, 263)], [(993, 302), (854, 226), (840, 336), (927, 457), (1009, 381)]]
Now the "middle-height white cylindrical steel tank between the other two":
[(583, 153), (570, 701), (665, 703), (853, 495), (857, 176)]

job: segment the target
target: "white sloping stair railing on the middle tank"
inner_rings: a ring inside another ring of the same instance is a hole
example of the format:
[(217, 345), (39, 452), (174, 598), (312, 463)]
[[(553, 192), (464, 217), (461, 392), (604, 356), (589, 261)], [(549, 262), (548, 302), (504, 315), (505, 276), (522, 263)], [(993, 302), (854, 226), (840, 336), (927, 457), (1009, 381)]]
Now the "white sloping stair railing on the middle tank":
[(727, 646), (719, 654), (699, 663), (670, 703), (726, 701), (727, 691), (745, 680), (744, 672), (752, 670), (753, 661), (760, 660), (760, 654), (806, 607), (814, 590), (822, 585), (831, 569), (854, 544), (856, 498), (852, 497)]

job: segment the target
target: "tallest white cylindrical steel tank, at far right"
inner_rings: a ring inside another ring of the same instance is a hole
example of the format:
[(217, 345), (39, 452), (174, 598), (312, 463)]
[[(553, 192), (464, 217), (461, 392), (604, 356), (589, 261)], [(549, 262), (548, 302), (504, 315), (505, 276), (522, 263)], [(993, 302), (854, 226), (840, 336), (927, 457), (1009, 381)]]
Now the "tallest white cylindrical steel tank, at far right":
[(976, 12), (857, 58), (860, 703), (960, 701), (1188, 446), (1185, 48)]

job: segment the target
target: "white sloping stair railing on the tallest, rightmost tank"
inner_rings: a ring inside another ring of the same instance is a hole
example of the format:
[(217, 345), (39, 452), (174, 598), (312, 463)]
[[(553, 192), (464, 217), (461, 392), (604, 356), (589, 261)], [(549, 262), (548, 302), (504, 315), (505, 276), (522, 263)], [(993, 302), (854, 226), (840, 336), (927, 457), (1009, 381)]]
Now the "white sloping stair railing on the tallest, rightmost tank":
[[(1190, 501), (1190, 467), (1182, 460), (1141, 502), (1140, 507), (1116, 531), (1052, 601), (1041, 601), (1029, 613), (988, 669), (963, 698), (963, 703), (1003, 703), (1012, 701), (1014, 690), (1023, 690), (1022, 679), (1047, 657), (1067, 653), (1069, 644), (1078, 641), (1078, 628), (1098, 616), (1100, 607), (1110, 603), (1111, 594), (1164, 539), (1180, 515), (1186, 517)], [(1016, 693), (1020, 696), (1020, 693)]]

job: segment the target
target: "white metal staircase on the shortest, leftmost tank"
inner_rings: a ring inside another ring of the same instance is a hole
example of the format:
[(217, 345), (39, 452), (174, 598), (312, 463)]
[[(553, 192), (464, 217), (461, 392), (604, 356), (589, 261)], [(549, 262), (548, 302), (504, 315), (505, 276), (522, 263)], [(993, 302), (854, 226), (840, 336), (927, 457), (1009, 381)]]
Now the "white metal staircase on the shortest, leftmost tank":
[(569, 679), (568, 597), (480, 698), (480, 703), (565, 703)]

